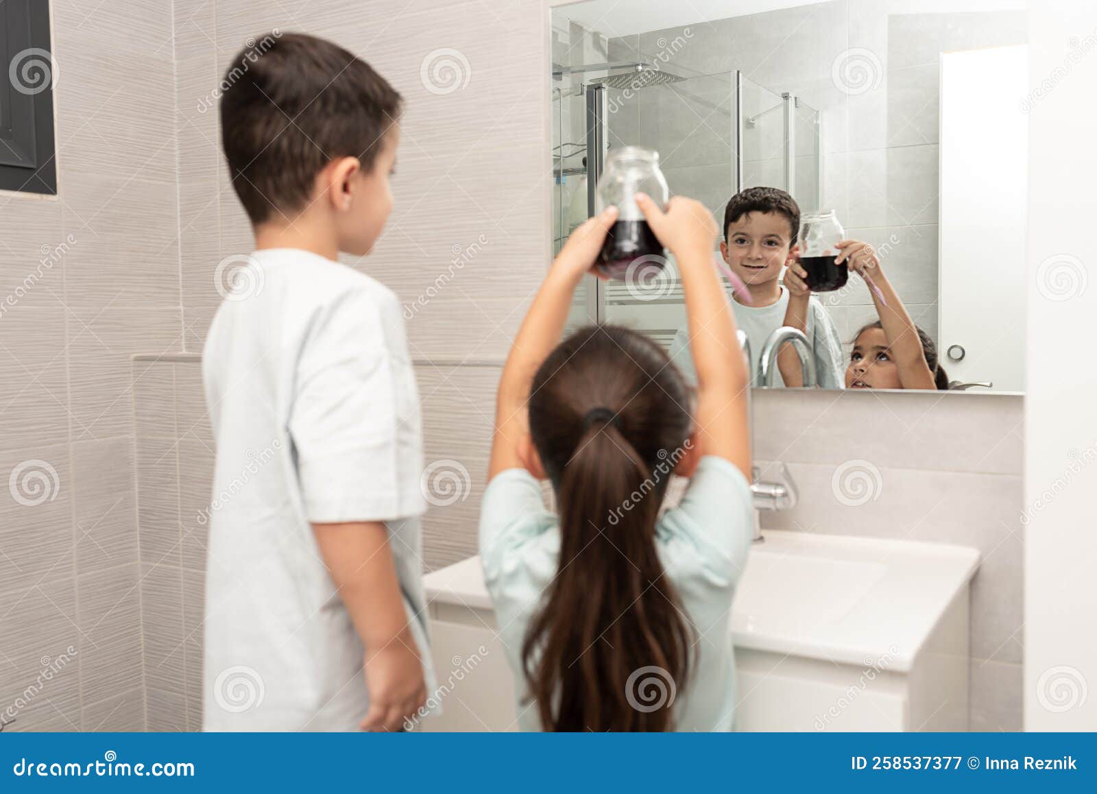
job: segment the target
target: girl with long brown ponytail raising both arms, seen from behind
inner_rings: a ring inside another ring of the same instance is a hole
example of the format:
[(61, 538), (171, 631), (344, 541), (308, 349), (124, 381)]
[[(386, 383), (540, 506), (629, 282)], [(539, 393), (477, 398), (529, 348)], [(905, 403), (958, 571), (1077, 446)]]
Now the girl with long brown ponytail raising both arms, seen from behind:
[[(731, 601), (750, 545), (747, 373), (699, 202), (636, 198), (681, 274), (698, 386), (649, 339), (584, 328), (573, 293), (617, 218), (568, 239), (499, 383), (479, 543), (523, 729), (730, 729)], [(659, 517), (670, 474), (690, 476)], [(552, 483), (558, 514), (544, 508)]]

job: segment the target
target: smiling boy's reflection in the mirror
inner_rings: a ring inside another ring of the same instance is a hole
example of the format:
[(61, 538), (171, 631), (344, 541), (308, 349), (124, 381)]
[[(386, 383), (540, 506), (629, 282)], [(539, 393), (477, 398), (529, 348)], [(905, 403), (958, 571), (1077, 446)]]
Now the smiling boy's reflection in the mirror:
[[(737, 295), (732, 302), (735, 322), (750, 339), (751, 383), (761, 385), (759, 362), (766, 340), (781, 326), (792, 326), (807, 334), (815, 355), (818, 386), (842, 388), (841, 343), (830, 316), (802, 281), (787, 276), (789, 284), (785, 287), (779, 283), (781, 271), (795, 261), (799, 231), (800, 207), (791, 195), (777, 188), (742, 190), (732, 196), (724, 211), (720, 253), (746, 284), (753, 303), (746, 306), (739, 303)], [(793, 283), (796, 288), (789, 288)], [(675, 333), (670, 358), (690, 381), (697, 379), (685, 327)], [(784, 385), (782, 374), (788, 374), (794, 385), (801, 385), (800, 360), (791, 344), (782, 348), (777, 364), (778, 385)]]

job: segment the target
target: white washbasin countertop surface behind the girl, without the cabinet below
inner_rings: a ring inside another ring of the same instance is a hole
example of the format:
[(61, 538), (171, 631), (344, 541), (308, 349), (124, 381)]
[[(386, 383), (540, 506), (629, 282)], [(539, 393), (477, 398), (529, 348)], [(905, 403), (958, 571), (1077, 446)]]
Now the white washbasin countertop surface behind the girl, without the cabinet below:
[[(965, 546), (764, 534), (732, 603), (739, 648), (907, 672), (979, 567), (979, 552)], [(428, 574), (425, 585), (429, 602), (491, 609), (479, 557)]]

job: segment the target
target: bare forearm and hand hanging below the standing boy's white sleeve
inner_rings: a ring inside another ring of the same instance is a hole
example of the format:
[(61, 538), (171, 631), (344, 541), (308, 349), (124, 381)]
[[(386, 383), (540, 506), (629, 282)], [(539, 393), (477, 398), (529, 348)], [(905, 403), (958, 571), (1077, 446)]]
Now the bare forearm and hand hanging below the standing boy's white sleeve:
[(419, 648), (408, 627), (388, 533), (380, 521), (313, 524), (320, 555), (362, 645), (370, 712), (359, 727), (399, 730), (426, 702)]

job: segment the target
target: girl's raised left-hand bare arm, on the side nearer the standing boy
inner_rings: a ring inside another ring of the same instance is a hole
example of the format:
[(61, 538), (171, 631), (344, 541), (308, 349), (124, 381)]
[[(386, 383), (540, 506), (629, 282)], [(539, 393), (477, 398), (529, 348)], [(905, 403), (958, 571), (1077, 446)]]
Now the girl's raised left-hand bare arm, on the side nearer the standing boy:
[(527, 400), (538, 368), (559, 342), (572, 307), (572, 297), (598, 257), (606, 232), (617, 220), (617, 207), (588, 218), (556, 254), (548, 275), (518, 329), (499, 377), (495, 434), (488, 479), (508, 468), (521, 468), (522, 439), (529, 432)]

